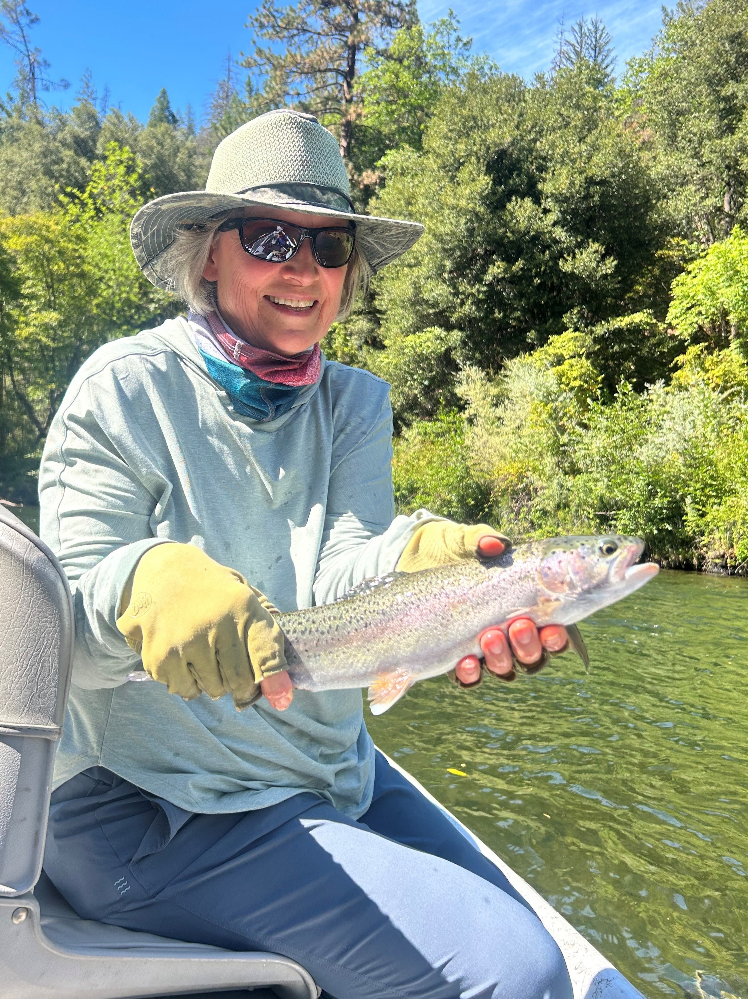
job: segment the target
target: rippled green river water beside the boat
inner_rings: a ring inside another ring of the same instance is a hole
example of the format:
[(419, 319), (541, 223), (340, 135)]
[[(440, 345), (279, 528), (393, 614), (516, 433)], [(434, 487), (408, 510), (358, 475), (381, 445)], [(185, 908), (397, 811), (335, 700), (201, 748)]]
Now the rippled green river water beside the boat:
[(646, 996), (748, 999), (748, 580), (664, 571), (581, 630), (588, 674), (437, 677), (369, 729)]

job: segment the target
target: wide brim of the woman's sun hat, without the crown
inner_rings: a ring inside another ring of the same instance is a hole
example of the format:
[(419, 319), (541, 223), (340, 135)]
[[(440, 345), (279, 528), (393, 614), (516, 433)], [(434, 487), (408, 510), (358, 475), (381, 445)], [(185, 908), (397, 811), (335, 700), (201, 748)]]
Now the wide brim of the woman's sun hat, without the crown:
[(327, 215), (356, 223), (356, 243), (374, 274), (402, 256), (423, 233), (418, 222), (357, 215), (325, 205), (293, 198), (269, 197), (263, 192), (223, 194), (208, 191), (183, 191), (164, 195), (144, 205), (130, 226), (130, 242), (135, 259), (148, 280), (158, 288), (174, 288), (169, 266), (169, 250), (177, 230), (194, 223), (200, 225), (222, 212), (242, 208), (278, 208), (305, 215)]

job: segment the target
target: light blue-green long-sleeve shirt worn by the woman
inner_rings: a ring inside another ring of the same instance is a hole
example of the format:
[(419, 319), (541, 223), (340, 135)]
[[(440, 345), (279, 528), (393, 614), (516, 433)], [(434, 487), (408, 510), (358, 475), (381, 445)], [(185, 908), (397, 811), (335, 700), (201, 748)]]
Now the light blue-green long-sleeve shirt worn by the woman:
[(238, 712), (128, 682), (122, 592), (152, 545), (182, 541), (238, 569), (281, 610), (391, 571), (426, 511), (394, 516), (388, 387), (323, 362), (268, 423), (239, 416), (187, 320), (107, 344), (82, 367), (42, 458), (40, 533), (73, 589), (76, 645), (55, 786), (100, 764), (198, 812), (262, 808), (315, 791), (369, 807), (374, 746), (358, 689), (295, 691)]

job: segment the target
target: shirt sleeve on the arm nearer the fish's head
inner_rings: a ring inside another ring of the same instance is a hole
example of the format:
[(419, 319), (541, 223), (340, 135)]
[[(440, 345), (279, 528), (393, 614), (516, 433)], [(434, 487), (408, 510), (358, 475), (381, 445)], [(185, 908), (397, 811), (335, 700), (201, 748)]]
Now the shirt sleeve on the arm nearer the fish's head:
[(415, 529), (440, 519), (425, 509), (394, 515), (392, 411), (387, 399), (374, 427), (333, 467), (315, 602), (331, 603), (365, 579), (391, 572)]

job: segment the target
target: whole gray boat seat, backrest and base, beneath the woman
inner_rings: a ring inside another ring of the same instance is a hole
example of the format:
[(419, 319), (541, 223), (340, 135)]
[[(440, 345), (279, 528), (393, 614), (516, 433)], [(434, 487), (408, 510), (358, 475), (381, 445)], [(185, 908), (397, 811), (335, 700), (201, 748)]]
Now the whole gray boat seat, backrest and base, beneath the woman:
[(239, 999), (247, 990), (256, 999), (268, 990), (281, 999), (318, 999), (309, 972), (281, 955), (81, 919), (42, 873), (72, 658), (73, 608), (62, 567), (0, 505), (0, 999)]

